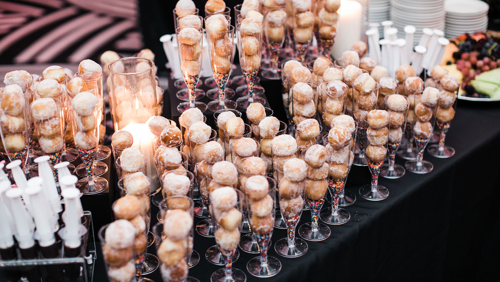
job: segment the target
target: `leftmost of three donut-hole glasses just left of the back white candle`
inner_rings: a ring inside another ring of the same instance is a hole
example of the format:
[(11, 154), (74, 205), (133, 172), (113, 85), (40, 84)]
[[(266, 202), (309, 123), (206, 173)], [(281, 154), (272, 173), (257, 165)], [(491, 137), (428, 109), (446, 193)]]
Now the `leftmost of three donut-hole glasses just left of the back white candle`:
[(269, 50), (270, 68), (262, 70), (262, 77), (267, 79), (281, 79), (279, 69), (279, 51), (283, 47), (285, 39), (285, 25), (288, 22), (288, 14), (285, 11), (286, 4), (277, 4), (274, 1), (266, 5), (264, 3), (264, 34)]

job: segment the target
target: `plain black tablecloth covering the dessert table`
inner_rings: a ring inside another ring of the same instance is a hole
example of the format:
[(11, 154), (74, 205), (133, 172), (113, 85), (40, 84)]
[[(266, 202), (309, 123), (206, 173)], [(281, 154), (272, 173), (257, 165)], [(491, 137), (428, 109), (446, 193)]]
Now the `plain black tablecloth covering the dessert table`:
[[(271, 107), (279, 106), (279, 82), (261, 84)], [(293, 259), (283, 258), (274, 251), (274, 243), (286, 237), (285, 230), (274, 229), (269, 255), (280, 260), (282, 269), (265, 280), (498, 281), (500, 209), (495, 203), (500, 187), (498, 140), (500, 104), (458, 101), (446, 138), (446, 144), (456, 151), (453, 157), (437, 159), (425, 154), (424, 159), (434, 165), (431, 173), (406, 172), (395, 180), (380, 178), (379, 184), (390, 193), (379, 202), (359, 197), (358, 188), (370, 181), (369, 171), (367, 167), (354, 166), (346, 187), (357, 196), (353, 205), (345, 207), (351, 215), (350, 221), (330, 225), (328, 239), (307, 242), (307, 253)], [(396, 159), (396, 163), (404, 165), (404, 160)], [(156, 212), (153, 207), (152, 224)], [(309, 221), (310, 214), (304, 211), (298, 226)], [(201, 259), (189, 270), (189, 275), (200, 282), (209, 281), (210, 275), (221, 268), (204, 259), (206, 249), (213, 245), (213, 238), (195, 234), (194, 250)], [(154, 253), (154, 247), (149, 247), (148, 252)], [(263, 281), (246, 272), (246, 263), (256, 255), (239, 253), (233, 267), (243, 270), (247, 281)], [(159, 270), (145, 277), (161, 281)], [(99, 256), (94, 281), (104, 280)]]

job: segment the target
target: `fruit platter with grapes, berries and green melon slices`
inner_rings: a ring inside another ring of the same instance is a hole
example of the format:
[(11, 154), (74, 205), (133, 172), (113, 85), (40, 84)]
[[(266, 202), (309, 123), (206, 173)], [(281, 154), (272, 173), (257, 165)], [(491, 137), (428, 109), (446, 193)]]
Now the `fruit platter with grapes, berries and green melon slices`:
[(456, 47), (446, 68), (461, 77), (458, 99), (500, 101), (500, 32), (463, 34), (450, 41)]

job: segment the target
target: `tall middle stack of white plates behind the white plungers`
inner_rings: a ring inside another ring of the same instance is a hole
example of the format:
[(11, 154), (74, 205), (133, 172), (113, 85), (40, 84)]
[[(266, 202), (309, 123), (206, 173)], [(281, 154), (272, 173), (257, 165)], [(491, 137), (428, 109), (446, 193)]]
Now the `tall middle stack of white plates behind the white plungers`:
[(397, 28), (397, 35), (404, 38), (404, 26), (416, 27), (413, 44), (417, 44), (422, 36), (422, 28), (444, 29), (444, 0), (392, 0), (390, 20)]

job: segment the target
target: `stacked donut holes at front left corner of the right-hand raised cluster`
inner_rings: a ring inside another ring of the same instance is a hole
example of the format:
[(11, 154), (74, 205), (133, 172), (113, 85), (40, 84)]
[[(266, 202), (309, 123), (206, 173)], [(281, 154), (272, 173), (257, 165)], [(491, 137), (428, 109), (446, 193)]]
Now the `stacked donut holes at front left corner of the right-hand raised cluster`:
[(292, 99), (288, 109), (292, 114), (293, 123), (300, 123), (316, 114), (317, 91), (315, 90), (317, 87), (313, 87), (314, 89), (307, 83), (297, 82), (290, 88), (290, 97)]

